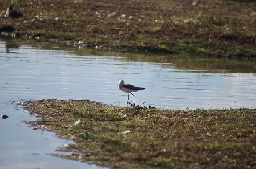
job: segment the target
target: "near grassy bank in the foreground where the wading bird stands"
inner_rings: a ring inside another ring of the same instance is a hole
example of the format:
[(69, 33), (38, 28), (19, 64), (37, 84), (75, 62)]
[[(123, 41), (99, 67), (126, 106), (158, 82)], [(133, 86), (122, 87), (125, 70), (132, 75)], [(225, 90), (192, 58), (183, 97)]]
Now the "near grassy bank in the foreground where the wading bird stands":
[(158, 110), (57, 100), (23, 106), (41, 117), (29, 124), (76, 142), (60, 149), (73, 152), (63, 158), (120, 168), (256, 167), (255, 109)]

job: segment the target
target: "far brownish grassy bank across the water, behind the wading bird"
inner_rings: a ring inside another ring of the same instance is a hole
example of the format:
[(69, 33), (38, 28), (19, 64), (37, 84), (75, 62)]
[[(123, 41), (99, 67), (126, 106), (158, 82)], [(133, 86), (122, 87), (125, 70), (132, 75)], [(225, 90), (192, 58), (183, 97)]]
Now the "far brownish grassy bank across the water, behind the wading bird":
[[(256, 3), (228, 0), (4, 1), (0, 31), (131, 51), (256, 56)], [(4, 17), (9, 6), (22, 18)]]

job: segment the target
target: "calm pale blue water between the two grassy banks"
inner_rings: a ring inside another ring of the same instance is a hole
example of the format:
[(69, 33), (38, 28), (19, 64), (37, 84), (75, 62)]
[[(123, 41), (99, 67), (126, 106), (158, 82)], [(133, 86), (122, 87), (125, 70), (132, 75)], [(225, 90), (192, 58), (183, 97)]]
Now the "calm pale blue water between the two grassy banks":
[[(126, 54), (127, 55), (127, 54)], [(133, 54), (131, 54), (133, 55)], [(145, 87), (135, 103), (183, 110), (255, 107), (254, 73), (208, 73), (173, 63), (134, 62), (122, 53), (70, 48), (48, 42), (0, 37), (0, 168), (97, 168), (49, 155), (69, 143), (51, 132), (32, 130), (17, 102), (29, 99), (89, 99), (125, 106), (119, 80)], [(130, 99), (133, 99), (132, 97)]]

